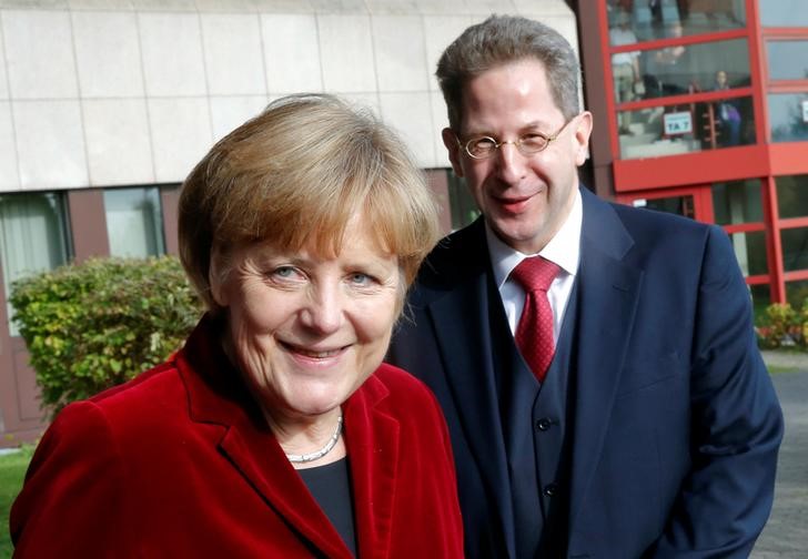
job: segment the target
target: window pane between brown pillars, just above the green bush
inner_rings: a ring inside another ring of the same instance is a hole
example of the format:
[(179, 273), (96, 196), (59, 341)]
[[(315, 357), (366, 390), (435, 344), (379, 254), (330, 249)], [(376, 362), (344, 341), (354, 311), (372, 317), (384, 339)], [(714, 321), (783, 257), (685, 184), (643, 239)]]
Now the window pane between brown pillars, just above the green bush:
[(156, 187), (104, 191), (104, 209), (110, 254), (145, 257), (165, 253)]

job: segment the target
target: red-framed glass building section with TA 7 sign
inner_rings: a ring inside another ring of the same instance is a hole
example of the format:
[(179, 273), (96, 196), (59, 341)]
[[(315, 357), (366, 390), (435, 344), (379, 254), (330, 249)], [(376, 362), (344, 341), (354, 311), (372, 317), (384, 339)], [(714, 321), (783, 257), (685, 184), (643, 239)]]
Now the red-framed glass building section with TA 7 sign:
[(586, 98), (597, 123), (590, 166), (597, 193), (721, 225), (756, 309), (772, 302), (801, 307), (808, 295), (805, 2), (582, 0), (578, 7)]

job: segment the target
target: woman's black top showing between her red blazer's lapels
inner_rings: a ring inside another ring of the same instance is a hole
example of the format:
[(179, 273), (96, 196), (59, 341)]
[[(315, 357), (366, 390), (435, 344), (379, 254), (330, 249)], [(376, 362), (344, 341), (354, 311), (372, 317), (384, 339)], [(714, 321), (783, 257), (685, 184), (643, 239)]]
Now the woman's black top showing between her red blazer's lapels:
[(351, 490), (351, 475), (347, 458), (342, 458), (325, 466), (299, 469), (309, 491), (336, 531), (342, 536), (345, 545), (356, 557), (356, 535), (353, 519), (353, 491)]

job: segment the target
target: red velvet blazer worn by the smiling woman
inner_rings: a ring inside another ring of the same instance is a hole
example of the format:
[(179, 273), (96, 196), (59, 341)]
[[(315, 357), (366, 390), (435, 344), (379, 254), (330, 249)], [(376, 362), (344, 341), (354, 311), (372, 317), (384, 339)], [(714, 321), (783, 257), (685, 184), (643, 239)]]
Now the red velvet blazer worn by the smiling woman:
[[(462, 557), (432, 393), (383, 364), (343, 406), (358, 556)], [(203, 319), (168, 363), (65, 407), (11, 509), (16, 557), (351, 557)]]

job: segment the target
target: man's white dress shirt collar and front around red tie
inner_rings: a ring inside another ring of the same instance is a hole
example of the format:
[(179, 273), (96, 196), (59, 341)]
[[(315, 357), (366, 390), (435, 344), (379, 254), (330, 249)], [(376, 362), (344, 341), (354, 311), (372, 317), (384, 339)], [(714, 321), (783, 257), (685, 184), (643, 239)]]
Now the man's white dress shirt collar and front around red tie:
[[(580, 192), (576, 192), (573, 210), (569, 212), (567, 220), (558, 230), (558, 233), (538, 253), (539, 256), (554, 262), (562, 268), (547, 291), (549, 306), (553, 308), (553, 339), (556, 344), (558, 343), (558, 333), (564, 319), (564, 311), (567, 308), (569, 296), (573, 293), (575, 274), (578, 272), (583, 221), (584, 206), (580, 201)], [(535, 256), (535, 254), (523, 254), (511, 248), (496, 236), (487, 223), (485, 224), (485, 235), (488, 241), (488, 255), (494, 271), (494, 281), (499, 289), (511, 332), (515, 333), (522, 316), (522, 308), (525, 306), (525, 291), (508, 276), (523, 260)]]

